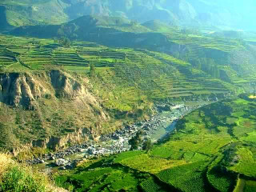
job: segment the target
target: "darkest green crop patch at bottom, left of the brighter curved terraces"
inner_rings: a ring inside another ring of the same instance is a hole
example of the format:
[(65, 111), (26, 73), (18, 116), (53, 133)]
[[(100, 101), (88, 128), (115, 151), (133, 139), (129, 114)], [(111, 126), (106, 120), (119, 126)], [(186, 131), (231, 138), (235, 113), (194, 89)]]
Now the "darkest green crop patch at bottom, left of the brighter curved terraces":
[[(104, 166), (97, 167), (100, 164)], [(56, 183), (75, 191), (139, 191), (138, 184), (148, 178), (150, 174), (119, 164), (110, 166), (110, 159), (102, 158), (100, 162), (85, 162), (70, 174), (58, 176)]]

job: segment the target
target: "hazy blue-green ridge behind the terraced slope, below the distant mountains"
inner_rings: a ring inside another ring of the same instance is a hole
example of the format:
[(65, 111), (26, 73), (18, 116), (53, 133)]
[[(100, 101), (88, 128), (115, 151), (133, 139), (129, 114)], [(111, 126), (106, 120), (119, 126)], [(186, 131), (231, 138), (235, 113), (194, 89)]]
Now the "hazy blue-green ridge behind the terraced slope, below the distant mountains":
[[(46, 31), (46, 32), (45, 32)], [(226, 33), (228, 33), (226, 31)], [(95, 42), (110, 47), (130, 47), (170, 54), (189, 62), (213, 78), (234, 84), (255, 81), (255, 36), (226, 38), (199, 30), (181, 30), (157, 20), (131, 23), (118, 17), (88, 15), (59, 26), (22, 26), (11, 35), (35, 38), (60, 38)], [(229, 32), (232, 34), (232, 31)], [(235, 32), (233, 34), (236, 34)]]

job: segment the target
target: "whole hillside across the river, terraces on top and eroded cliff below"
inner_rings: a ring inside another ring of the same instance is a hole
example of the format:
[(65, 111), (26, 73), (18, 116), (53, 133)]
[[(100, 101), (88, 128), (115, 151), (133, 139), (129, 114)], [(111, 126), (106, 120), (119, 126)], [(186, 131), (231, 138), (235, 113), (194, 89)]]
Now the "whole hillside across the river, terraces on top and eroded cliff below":
[(123, 123), (149, 118), (156, 101), (207, 101), (242, 91), (154, 51), (92, 42), (63, 47), (51, 39), (12, 36), (1, 40), (0, 118), (6, 135), (1, 147), (14, 154), (26, 144), (56, 150), (98, 138)]

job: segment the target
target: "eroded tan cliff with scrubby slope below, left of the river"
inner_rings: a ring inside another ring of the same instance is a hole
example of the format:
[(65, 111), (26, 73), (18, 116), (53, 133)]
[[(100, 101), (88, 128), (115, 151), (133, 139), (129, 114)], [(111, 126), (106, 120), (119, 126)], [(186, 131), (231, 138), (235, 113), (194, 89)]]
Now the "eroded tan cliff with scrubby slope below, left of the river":
[(0, 122), (17, 140), (8, 148), (58, 150), (98, 137), (109, 121), (98, 100), (88, 79), (60, 70), (0, 74)]

